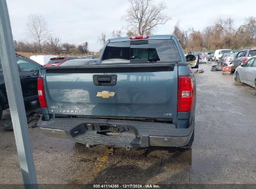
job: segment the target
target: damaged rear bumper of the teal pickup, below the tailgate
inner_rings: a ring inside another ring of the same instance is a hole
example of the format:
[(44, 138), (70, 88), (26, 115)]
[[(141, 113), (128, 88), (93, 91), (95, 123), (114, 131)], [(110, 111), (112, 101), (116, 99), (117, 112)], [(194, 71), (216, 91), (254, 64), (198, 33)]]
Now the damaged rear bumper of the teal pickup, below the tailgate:
[[(110, 145), (116, 147), (184, 147), (191, 139), (194, 122), (186, 129), (177, 129), (174, 124), (87, 119), (54, 118), (38, 122), (40, 130), (47, 136), (69, 138), (72, 141), (90, 145)], [(117, 135), (102, 134), (102, 126), (123, 129)]]

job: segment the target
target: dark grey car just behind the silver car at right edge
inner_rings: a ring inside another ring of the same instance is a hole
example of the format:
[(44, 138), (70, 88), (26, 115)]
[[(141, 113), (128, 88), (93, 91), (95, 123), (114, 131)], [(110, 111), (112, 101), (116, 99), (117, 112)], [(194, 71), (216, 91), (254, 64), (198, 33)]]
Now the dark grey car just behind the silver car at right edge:
[(254, 56), (256, 56), (256, 49), (247, 48), (244, 50), (240, 50), (240, 52), (237, 53), (237, 55), (235, 56), (234, 60), (232, 60), (232, 63), (234, 63), (234, 69), (239, 67), (241, 63), (244, 64), (245, 62), (247, 62), (247, 60)]

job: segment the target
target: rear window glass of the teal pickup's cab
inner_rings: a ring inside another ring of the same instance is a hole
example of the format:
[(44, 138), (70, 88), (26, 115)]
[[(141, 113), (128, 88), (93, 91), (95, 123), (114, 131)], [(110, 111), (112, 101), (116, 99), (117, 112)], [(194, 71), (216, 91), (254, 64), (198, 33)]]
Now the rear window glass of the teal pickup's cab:
[(110, 43), (105, 48), (102, 57), (102, 63), (179, 61), (181, 57), (173, 40), (148, 40), (148, 44), (131, 44), (130, 41)]

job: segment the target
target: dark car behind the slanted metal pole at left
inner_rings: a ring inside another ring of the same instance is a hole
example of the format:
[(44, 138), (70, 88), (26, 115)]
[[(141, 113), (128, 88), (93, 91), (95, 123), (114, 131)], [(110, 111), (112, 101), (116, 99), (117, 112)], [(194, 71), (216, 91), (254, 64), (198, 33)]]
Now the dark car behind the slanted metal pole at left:
[[(31, 103), (38, 100), (37, 94), (37, 78), (39, 76), (39, 63), (33, 60), (17, 55), (17, 65), (19, 68), (19, 78), (21, 80), (21, 90), (23, 94), (24, 103)], [(2, 66), (0, 64), (0, 119), (2, 118), (2, 111), (9, 108), (6, 86), (4, 83), (4, 76), (2, 74)]]

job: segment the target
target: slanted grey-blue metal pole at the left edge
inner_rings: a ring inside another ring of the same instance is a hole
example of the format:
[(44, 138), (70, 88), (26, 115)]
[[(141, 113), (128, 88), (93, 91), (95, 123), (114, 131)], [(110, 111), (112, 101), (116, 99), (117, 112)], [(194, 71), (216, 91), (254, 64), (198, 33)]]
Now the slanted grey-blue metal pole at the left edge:
[(14, 52), (12, 30), (6, 0), (0, 0), (0, 63), (6, 83), (17, 154), (25, 188), (37, 188), (36, 169), (27, 128), (21, 81)]

